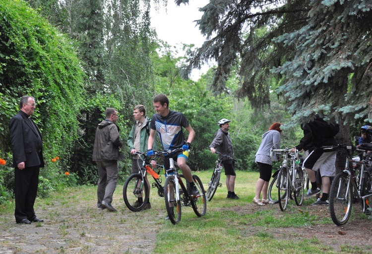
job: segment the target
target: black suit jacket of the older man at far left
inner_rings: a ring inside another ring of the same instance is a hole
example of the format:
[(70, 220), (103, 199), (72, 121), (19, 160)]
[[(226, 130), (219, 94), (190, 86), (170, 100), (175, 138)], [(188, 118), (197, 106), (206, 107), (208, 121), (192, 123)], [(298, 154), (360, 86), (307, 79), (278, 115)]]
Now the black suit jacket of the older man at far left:
[(25, 162), (25, 168), (44, 167), (43, 137), (36, 124), (34, 124), (35, 130), (31, 121), (23, 111), (19, 111), (10, 119), (9, 131), (14, 168), (17, 168), (21, 162)]

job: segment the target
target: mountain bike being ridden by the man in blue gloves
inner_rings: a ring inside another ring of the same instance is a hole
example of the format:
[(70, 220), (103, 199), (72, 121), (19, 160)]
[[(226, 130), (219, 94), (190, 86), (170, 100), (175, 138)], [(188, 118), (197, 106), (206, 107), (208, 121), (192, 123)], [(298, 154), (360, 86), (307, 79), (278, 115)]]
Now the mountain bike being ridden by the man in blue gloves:
[[(180, 151), (183, 151), (182, 148), (156, 153), (170, 155)], [(179, 169), (176, 167), (177, 163), (172, 158), (169, 159), (169, 162), (170, 168), (166, 170), (167, 178), (164, 183), (165, 207), (167, 209), (169, 220), (173, 224), (177, 224), (181, 221), (182, 205), (191, 206), (198, 217), (205, 215), (207, 211), (207, 200), (200, 178), (195, 174), (192, 175), (199, 194), (189, 195), (187, 191), (187, 189), (189, 189), (188, 182), (182, 174), (178, 173)]]

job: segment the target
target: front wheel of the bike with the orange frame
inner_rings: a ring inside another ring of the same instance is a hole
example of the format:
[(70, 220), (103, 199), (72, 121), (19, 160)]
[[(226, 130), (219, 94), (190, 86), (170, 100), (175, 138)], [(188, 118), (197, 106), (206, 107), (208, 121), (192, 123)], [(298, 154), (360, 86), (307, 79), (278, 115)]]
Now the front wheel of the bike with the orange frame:
[[(125, 180), (123, 186), (124, 203), (133, 212), (141, 211), (149, 199), (149, 186), (142, 179), (141, 174), (131, 174)], [(140, 197), (142, 197), (142, 203), (138, 202)]]

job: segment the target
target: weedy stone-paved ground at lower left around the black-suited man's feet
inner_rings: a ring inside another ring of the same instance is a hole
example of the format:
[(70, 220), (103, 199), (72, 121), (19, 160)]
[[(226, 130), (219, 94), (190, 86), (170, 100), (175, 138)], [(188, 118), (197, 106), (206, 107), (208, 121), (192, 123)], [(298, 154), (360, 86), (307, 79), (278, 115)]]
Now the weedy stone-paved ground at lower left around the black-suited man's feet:
[[(97, 210), (93, 201), (41, 206), (37, 215), (43, 223), (20, 225), (11, 214), (1, 217), (1, 254), (151, 253), (164, 220), (164, 213), (154, 209), (133, 213), (117, 207), (112, 213)], [(134, 223), (143, 216), (143, 223)]]

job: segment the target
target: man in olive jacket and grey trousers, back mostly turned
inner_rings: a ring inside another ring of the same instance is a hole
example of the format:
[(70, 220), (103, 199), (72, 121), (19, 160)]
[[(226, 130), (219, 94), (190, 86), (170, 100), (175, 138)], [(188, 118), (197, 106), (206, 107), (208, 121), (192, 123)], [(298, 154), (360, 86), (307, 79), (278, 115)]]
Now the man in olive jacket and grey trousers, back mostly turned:
[(93, 161), (97, 163), (99, 174), (97, 206), (99, 210), (107, 208), (111, 212), (116, 209), (111, 205), (113, 194), (118, 183), (118, 161), (123, 160), (119, 149), (123, 146), (120, 140), (118, 112), (115, 108), (107, 108), (106, 120), (98, 124), (93, 147)]

